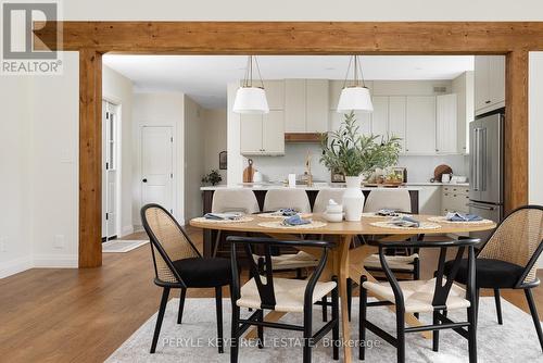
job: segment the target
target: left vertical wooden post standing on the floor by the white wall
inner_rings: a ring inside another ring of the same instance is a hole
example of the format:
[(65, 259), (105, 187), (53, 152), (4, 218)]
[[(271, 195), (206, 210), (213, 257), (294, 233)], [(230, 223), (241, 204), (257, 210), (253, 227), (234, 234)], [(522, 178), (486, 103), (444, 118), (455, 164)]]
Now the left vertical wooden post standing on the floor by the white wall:
[(79, 51), (79, 267), (102, 265), (102, 54)]

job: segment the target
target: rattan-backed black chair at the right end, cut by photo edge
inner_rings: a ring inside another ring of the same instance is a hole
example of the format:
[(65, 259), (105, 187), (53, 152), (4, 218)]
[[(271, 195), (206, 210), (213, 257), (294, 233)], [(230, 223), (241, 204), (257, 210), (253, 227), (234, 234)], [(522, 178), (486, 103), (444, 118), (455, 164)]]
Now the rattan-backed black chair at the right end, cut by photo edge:
[[(532, 288), (540, 285), (535, 276), (536, 262), (543, 251), (543, 206), (525, 205), (513, 211), (479, 250), (476, 259), (476, 292), (493, 289), (497, 323), (503, 324), (501, 289), (522, 289), (543, 350), (543, 333), (533, 301)], [(451, 271), (451, 262), (445, 272)], [(455, 279), (466, 283), (467, 262), (463, 261)]]

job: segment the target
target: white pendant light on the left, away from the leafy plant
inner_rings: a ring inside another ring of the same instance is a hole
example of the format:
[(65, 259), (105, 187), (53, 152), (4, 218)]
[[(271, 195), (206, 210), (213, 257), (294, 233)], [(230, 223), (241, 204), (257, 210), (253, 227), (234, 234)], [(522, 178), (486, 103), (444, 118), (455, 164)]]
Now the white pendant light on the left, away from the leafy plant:
[[(253, 84), (253, 66), (256, 66), (261, 86), (257, 87)], [(262, 82), (261, 70), (256, 57), (249, 55), (247, 61), (245, 77), (243, 84), (236, 92), (233, 101), (233, 112), (236, 113), (252, 113), (262, 114), (268, 113), (269, 107), (264, 90), (264, 83)]]

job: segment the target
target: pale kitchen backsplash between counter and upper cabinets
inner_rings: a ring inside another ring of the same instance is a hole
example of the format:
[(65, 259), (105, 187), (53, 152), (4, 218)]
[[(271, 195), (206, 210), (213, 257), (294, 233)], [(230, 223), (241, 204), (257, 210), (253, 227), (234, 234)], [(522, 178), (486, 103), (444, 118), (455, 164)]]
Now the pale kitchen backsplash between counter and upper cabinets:
[[(312, 172), (315, 182), (330, 182), (330, 172), (321, 165), (320, 147), (316, 143), (286, 143), (283, 157), (253, 157), (254, 167), (264, 175), (265, 180), (283, 180), (290, 173), (301, 175), (305, 171), (305, 158), (312, 155)], [(468, 173), (468, 157), (400, 157), (399, 166), (407, 167), (408, 182), (429, 182), (433, 170), (440, 164), (447, 164), (456, 175)], [(247, 159), (244, 160), (247, 166)]]

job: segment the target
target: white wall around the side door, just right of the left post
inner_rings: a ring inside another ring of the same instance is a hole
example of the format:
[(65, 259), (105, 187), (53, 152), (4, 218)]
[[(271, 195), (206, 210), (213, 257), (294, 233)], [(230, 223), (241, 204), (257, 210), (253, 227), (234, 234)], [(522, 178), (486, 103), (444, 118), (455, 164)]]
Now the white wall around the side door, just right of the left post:
[(121, 107), (121, 237), (134, 231), (132, 178), (134, 178), (134, 125), (132, 83), (122, 74), (103, 66), (102, 97)]

